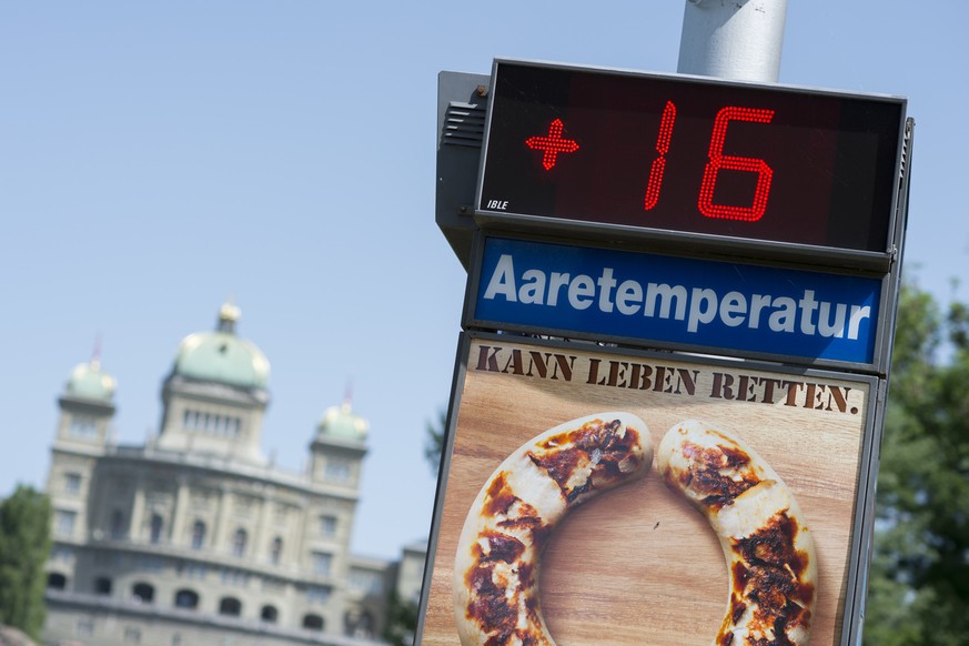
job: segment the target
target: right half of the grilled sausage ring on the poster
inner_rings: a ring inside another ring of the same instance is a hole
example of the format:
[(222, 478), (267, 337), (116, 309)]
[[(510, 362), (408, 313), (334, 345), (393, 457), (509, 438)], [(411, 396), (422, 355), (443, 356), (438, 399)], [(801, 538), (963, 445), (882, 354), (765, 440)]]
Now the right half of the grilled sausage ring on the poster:
[(806, 645), (817, 557), (784, 481), (738, 437), (695, 420), (667, 432), (656, 466), (706, 516), (724, 549), (730, 594), (714, 645)]

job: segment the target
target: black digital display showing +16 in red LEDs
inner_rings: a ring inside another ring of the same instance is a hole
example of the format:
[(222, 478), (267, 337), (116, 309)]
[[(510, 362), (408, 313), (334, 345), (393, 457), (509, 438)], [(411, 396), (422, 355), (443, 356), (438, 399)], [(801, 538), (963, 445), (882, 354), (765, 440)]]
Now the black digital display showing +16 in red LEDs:
[(901, 98), (517, 61), (491, 94), (480, 214), (889, 251)]

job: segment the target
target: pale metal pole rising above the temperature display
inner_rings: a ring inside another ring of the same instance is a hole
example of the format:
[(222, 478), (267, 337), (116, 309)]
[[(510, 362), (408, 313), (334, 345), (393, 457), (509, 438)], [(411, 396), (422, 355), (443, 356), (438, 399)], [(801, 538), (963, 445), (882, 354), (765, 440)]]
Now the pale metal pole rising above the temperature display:
[(688, 0), (677, 71), (776, 83), (786, 17), (787, 0)]

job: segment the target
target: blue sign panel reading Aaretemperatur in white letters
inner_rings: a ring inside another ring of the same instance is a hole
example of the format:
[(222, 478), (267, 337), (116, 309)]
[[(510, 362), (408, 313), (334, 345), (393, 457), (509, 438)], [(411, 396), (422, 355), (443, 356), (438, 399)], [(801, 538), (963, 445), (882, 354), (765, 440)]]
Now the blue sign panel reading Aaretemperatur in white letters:
[(881, 281), (488, 238), (472, 319), (871, 363)]

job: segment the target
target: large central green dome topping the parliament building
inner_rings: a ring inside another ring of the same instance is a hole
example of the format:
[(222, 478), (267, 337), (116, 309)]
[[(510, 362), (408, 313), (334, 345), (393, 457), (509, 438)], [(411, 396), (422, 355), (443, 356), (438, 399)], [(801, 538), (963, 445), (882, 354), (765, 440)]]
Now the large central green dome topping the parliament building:
[(255, 344), (235, 335), (239, 316), (239, 307), (222, 305), (214, 332), (185, 336), (175, 356), (175, 374), (245, 388), (265, 388), (269, 360)]

